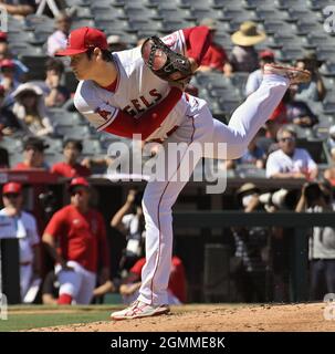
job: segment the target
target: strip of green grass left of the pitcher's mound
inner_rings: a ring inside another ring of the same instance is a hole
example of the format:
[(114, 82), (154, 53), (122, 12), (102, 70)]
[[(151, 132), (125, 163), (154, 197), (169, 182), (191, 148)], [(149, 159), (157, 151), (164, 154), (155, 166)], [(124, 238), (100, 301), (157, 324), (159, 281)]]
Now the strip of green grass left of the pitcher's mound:
[[(115, 309), (115, 306), (114, 306)], [(66, 311), (75, 312), (66, 312)], [(24, 311), (24, 313), (22, 313)], [(42, 311), (45, 311), (43, 313)], [(8, 320), (0, 320), (0, 332), (24, 331), (44, 326), (55, 326), (71, 323), (90, 323), (95, 321), (108, 321), (113, 306), (10, 306)]]

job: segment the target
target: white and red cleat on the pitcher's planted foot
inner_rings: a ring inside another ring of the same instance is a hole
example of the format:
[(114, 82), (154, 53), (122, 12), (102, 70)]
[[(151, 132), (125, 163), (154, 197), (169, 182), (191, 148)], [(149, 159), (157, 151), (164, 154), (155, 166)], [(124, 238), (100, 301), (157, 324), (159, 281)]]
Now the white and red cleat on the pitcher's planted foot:
[(111, 314), (112, 320), (132, 320), (140, 317), (157, 316), (170, 311), (168, 305), (148, 305), (139, 300), (133, 302), (128, 308)]

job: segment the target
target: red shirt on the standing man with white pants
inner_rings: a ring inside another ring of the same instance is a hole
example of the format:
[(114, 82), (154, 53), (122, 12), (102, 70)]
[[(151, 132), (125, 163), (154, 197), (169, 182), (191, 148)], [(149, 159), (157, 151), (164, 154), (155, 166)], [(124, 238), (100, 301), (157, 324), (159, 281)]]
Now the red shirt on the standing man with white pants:
[(96, 272), (98, 261), (108, 267), (108, 247), (102, 215), (91, 209), (85, 215), (70, 205), (53, 215), (44, 233), (60, 240), (60, 253), (67, 261), (76, 261)]

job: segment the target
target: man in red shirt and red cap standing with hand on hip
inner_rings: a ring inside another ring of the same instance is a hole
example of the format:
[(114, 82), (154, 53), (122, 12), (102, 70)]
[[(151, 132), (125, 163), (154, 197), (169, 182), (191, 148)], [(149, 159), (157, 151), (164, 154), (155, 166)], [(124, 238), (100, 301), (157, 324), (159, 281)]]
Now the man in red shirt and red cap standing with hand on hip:
[(59, 304), (88, 304), (100, 266), (102, 282), (109, 278), (106, 229), (103, 216), (90, 207), (87, 180), (72, 179), (69, 191), (71, 204), (51, 218), (43, 242), (56, 262)]

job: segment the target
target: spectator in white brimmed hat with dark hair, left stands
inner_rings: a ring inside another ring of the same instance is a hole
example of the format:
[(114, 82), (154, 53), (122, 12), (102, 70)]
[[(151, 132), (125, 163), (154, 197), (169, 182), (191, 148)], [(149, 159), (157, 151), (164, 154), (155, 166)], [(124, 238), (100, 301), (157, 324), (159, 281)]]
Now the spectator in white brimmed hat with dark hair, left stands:
[(14, 92), (13, 113), (28, 135), (43, 136), (54, 132), (46, 115), (43, 91), (31, 83), (21, 84)]

